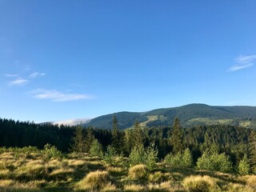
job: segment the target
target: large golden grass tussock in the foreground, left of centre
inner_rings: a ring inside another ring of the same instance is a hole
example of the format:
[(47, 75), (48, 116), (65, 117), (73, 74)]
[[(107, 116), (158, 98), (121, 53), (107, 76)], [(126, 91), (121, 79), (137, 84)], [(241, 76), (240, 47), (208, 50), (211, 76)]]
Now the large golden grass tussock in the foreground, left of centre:
[(110, 185), (110, 175), (106, 171), (90, 172), (78, 182), (78, 190), (101, 190)]

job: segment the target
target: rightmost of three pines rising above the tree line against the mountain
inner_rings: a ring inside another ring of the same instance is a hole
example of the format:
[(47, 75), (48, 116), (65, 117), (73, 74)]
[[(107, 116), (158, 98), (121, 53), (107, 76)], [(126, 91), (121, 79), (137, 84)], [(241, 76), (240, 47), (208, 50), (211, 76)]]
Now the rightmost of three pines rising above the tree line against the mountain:
[(170, 143), (173, 146), (174, 154), (182, 153), (183, 149), (183, 132), (178, 118), (174, 119), (174, 126), (171, 131)]

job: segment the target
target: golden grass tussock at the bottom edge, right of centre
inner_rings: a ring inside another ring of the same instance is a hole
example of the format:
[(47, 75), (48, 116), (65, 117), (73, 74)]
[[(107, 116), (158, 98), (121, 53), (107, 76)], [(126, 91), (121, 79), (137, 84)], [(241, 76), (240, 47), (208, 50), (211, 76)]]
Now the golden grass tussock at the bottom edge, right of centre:
[(208, 192), (214, 191), (214, 188), (216, 188), (217, 185), (214, 178), (192, 175), (183, 180), (183, 186), (186, 190), (191, 192)]

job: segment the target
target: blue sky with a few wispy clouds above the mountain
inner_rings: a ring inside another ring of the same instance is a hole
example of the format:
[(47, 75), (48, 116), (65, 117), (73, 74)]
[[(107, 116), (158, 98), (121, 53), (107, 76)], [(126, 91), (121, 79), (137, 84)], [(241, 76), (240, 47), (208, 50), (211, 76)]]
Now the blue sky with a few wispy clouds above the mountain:
[(256, 106), (256, 2), (0, 0), (0, 118)]

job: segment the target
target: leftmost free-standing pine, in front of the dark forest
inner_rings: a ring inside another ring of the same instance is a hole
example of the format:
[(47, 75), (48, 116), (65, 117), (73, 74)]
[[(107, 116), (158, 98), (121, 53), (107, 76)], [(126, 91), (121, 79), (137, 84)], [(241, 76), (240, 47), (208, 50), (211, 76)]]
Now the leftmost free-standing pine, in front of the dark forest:
[(83, 153), (86, 152), (86, 140), (81, 125), (77, 126), (74, 131), (74, 137), (72, 138), (73, 144), (71, 145), (71, 151)]

